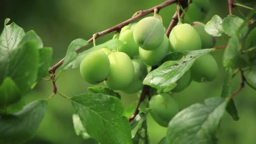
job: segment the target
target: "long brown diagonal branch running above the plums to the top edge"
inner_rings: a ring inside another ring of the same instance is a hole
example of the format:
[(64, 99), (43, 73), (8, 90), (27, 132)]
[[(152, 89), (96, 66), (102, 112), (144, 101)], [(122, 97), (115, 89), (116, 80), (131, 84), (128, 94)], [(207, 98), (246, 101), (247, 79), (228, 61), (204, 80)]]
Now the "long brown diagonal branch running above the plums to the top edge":
[[(126, 21), (123, 21), (123, 22), (121, 22), (120, 24), (117, 24), (117, 25), (115, 25), (114, 27), (110, 27), (109, 29), (106, 29), (106, 30), (104, 30), (104, 31), (102, 31), (102, 32), (97, 32), (97, 33), (95, 33), (95, 34), (96, 34), (96, 37), (95, 37), (95, 38), (104, 36), (104, 35), (106, 35), (106, 34), (108, 34), (108, 33), (110, 33), (110, 32), (120, 31), (120, 30), (121, 30), (124, 26), (126, 26), (127, 24), (130, 24), (131, 22), (133, 22), (133, 21), (135, 21), (135, 20), (137, 20), (137, 19), (140, 19), (141, 17), (146, 16), (146, 15), (148, 15), (149, 13), (154, 13), (154, 9), (155, 9), (155, 8), (157, 8), (158, 11), (159, 11), (160, 9), (165, 8), (166, 6), (171, 5), (171, 4), (173, 4), (173, 3), (177, 3), (177, 2), (178, 2), (178, 0), (166, 0), (165, 2), (163, 2), (163, 3), (159, 4), (159, 5), (156, 5), (156, 6), (152, 7), (152, 8), (149, 8), (149, 9), (147, 9), (147, 10), (144, 10), (144, 11), (137, 11), (137, 12), (136, 12), (137, 15), (136, 15), (136, 16), (133, 16), (131, 19), (128, 19), (128, 20), (126, 20)], [(93, 41), (93, 37), (91, 37), (91, 38), (88, 40), (88, 43), (91, 43), (92, 41)], [(85, 47), (78, 48), (78, 49), (76, 50), (76, 52), (81, 51), (83, 48), (85, 48)], [(49, 73), (54, 74), (55, 71), (56, 71), (56, 69), (58, 69), (58, 67), (61, 66), (61, 64), (63, 63), (63, 61), (64, 61), (64, 58), (61, 59), (59, 62), (57, 62), (55, 65), (53, 65), (53, 67), (51, 67), (51, 68), (49, 69)]]

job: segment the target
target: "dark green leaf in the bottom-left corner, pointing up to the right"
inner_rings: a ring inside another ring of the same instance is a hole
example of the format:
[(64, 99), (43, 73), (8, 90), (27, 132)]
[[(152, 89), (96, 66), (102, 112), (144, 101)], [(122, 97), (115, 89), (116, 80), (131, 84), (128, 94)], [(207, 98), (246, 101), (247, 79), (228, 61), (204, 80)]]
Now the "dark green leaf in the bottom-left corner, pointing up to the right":
[(13, 115), (0, 117), (0, 144), (21, 144), (31, 139), (45, 114), (47, 101), (29, 103)]

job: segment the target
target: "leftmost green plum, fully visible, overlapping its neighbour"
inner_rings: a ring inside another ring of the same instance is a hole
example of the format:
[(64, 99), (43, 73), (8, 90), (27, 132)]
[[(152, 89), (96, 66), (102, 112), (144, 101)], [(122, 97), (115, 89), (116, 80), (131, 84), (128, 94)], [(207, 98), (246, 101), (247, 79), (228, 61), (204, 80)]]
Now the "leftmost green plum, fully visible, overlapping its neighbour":
[(98, 84), (106, 80), (109, 69), (109, 58), (102, 50), (89, 53), (80, 63), (80, 73), (90, 84)]

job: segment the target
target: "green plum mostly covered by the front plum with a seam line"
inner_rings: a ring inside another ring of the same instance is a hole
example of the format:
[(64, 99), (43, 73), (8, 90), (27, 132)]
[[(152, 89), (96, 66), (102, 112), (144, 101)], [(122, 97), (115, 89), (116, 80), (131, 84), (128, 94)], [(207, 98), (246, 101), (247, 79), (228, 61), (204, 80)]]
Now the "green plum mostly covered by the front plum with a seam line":
[(162, 44), (155, 50), (146, 51), (142, 48), (139, 48), (139, 56), (145, 64), (155, 66), (160, 64), (163, 58), (165, 58), (165, 56), (168, 54), (169, 50), (169, 40), (165, 35)]

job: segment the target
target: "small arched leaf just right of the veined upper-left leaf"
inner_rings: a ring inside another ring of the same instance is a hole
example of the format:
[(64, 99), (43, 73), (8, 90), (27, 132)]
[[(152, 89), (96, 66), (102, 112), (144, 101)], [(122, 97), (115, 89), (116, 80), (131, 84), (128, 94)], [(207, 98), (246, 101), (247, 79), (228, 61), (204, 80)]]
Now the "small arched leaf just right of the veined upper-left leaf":
[(34, 40), (37, 42), (38, 48), (43, 48), (43, 42), (42, 42), (41, 38), (33, 30), (30, 30), (29, 32), (27, 32), (24, 35), (24, 37), (22, 37), (19, 45), (27, 43), (27, 41), (31, 41), (31, 40)]

